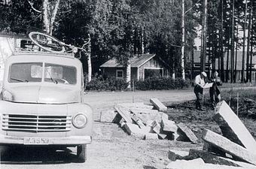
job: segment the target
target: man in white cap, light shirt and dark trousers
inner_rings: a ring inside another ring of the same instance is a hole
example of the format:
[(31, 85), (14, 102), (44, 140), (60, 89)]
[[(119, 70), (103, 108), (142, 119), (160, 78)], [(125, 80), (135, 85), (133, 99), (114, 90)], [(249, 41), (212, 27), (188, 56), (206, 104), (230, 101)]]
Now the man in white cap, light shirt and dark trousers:
[(197, 96), (196, 108), (198, 110), (203, 110), (203, 86), (206, 85), (206, 79), (207, 74), (204, 71), (195, 78), (194, 93)]

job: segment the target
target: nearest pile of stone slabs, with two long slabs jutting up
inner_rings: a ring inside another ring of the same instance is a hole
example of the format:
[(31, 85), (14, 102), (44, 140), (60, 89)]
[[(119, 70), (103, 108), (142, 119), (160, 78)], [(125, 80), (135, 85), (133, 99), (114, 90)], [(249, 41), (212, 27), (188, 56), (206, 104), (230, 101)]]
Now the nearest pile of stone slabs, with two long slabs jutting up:
[(213, 119), (221, 128), (222, 135), (204, 129), (203, 150), (190, 149), (190, 152), (180, 153), (170, 149), (168, 156), (172, 162), (166, 168), (171, 168), (178, 162), (193, 165), (198, 159), (201, 162), (200, 168), (215, 164), (212, 168), (232, 166), (230, 168), (256, 169), (256, 142), (225, 101), (218, 103)]

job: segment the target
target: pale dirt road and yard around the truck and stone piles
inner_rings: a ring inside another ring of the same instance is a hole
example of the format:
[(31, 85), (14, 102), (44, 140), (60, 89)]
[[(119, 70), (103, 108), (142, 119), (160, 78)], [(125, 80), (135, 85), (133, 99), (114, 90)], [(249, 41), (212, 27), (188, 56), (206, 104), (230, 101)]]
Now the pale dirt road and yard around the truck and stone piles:
[[(190, 90), (151, 92), (89, 92), (85, 100), (93, 107), (93, 143), (87, 147), (87, 161), (75, 163), (75, 149), (50, 152), (45, 149), (6, 149), (0, 168), (88, 168), (88, 169), (154, 169), (168, 164), (167, 152), (172, 149), (201, 148), (202, 144), (175, 142), (171, 140), (140, 140), (128, 136), (117, 124), (98, 122), (101, 110), (117, 103), (144, 102), (152, 97), (163, 102), (194, 99)], [(70, 152), (72, 150), (73, 152)]]

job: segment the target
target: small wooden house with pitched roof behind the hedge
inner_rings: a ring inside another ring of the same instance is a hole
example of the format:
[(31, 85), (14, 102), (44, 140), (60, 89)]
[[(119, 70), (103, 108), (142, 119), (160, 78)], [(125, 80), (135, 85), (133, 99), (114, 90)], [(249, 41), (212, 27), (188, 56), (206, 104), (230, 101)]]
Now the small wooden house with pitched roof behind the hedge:
[[(135, 55), (130, 59), (131, 80), (145, 80), (149, 77), (169, 77), (170, 68), (166, 62), (157, 58), (155, 54)], [(102, 74), (107, 77), (116, 77), (123, 79), (126, 77), (126, 68), (117, 62), (116, 59), (110, 59), (100, 66)]]

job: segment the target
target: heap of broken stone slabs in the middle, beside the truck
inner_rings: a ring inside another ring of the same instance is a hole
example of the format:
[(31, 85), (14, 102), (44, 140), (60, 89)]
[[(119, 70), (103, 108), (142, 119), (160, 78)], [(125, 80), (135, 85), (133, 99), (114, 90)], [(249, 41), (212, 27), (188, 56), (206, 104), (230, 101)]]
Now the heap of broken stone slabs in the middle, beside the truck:
[(165, 113), (167, 107), (157, 98), (151, 98), (152, 105), (125, 103), (114, 105), (114, 110), (101, 113), (101, 122), (119, 123), (128, 134), (143, 139), (187, 140), (197, 143), (197, 137), (183, 123), (175, 124)]

